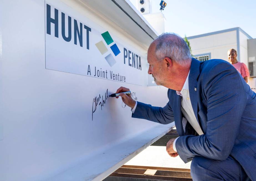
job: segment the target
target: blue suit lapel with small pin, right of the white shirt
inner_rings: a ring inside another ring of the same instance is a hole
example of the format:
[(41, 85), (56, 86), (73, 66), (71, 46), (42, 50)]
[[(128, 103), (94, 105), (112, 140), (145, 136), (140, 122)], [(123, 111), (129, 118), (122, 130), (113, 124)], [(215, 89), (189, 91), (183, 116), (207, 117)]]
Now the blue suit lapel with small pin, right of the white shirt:
[(198, 121), (198, 94), (197, 94), (197, 78), (200, 73), (200, 62), (194, 58), (192, 58), (190, 73), (188, 77), (188, 84), (189, 84), (189, 97), (192, 104), (192, 108), (194, 114), (196, 116), (196, 120)]

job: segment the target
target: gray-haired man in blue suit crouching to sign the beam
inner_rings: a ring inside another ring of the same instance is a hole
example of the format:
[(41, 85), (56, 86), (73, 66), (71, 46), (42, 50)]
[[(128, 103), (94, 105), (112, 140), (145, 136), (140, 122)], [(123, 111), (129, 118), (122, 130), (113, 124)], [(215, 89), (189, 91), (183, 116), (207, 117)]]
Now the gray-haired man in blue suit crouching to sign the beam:
[(169, 102), (154, 107), (120, 94), (132, 117), (175, 121), (179, 137), (166, 151), (192, 160), (193, 180), (256, 180), (256, 94), (237, 70), (220, 59), (199, 62), (181, 37), (169, 33), (151, 43), (148, 63), (156, 84), (169, 88)]

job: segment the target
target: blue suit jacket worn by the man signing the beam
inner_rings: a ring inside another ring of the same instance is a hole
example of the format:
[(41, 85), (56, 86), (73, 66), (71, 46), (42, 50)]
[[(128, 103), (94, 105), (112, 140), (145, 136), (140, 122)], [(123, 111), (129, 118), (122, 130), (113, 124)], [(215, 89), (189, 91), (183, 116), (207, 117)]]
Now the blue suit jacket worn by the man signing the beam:
[(256, 180), (256, 93), (228, 62), (199, 62), (192, 58), (189, 95), (203, 135), (187, 123), (182, 126), (181, 96), (168, 90), (169, 102), (161, 107), (137, 103), (133, 118), (161, 124), (175, 121), (176, 149), (186, 163), (196, 155), (214, 160), (234, 157), (251, 180)]

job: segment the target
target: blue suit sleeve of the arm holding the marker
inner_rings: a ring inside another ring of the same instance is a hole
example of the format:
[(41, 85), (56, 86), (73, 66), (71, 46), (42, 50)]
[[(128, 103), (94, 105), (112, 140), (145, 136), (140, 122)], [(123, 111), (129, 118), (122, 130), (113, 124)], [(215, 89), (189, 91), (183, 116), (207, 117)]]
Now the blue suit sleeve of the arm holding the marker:
[(149, 121), (161, 124), (169, 124), (174, 121), (173, 110), (171, 108), (170, 102), (168, 102), (166, 106), (162, 108), (154, 107), (150, 104), (144, 104), (137, 101), (137, 107), (131, 117), (147, 119)]

